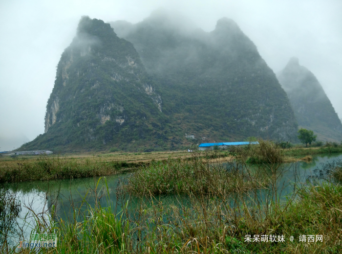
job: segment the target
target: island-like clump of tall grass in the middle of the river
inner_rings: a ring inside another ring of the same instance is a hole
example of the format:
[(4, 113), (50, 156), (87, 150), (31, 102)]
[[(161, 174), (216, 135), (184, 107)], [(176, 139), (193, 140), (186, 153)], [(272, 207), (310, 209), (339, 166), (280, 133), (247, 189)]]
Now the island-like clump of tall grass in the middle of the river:
[(159, 195), (174, 193), (205, 193), (227, 195), (262, 188), (263, 179), (257, 178), (248, 167), (236, 162), (209, 163), (201, 156), (151, 162), (128, 177), (124, 188), (132, 195)]

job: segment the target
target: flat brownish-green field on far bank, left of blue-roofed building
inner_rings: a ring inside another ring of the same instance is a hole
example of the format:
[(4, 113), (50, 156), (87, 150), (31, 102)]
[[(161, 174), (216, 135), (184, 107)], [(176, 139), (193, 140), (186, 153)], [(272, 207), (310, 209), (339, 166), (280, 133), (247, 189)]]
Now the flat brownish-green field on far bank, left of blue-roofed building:
[[(202, 159), (228, 158), (227, 151), (203, 153)], [(127, 158), (128, 157), (128, 158)], [(172, 158), (189, 160), (192, 153), (145, 153), (145, 154), (107, 154), (92, 157), (31, 156), (6, 158), (0, 161), (0, 183), (35, 180), (58, 180), (84, 177), (108, 176), (136, 170), (151, 162), (167, 161)], [(123, 161), (127, 159), (126, 161)]]

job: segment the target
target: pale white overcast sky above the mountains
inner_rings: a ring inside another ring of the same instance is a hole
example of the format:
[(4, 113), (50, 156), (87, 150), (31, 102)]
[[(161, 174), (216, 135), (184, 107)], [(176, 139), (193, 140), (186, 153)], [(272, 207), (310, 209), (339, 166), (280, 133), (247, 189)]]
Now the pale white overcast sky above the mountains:
[(158, 8), (208, 32), (232, 18), (275, 73), (297, 56), (342, 118), (342, 0), (0, 0), (0, 151), (44, 133), (56, 66), (81, 16), (137, 23)]

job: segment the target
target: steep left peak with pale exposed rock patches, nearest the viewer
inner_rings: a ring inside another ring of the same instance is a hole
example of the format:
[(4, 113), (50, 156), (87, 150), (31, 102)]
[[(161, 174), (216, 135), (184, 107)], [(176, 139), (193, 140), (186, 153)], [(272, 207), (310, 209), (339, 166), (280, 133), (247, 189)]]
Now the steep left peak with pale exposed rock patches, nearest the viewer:
[(161, 125), (168, 118), (162, 105), (132, 44), (118, 38), (109, 24), (83, 17), (57, 67), (45, 134), (25, 149), (165, 145)]

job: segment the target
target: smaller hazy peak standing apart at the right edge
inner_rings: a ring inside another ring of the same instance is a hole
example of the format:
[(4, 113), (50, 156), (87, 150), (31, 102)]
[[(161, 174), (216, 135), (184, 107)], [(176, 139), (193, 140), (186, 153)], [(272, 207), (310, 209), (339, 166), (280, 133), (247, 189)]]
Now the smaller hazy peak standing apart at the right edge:
[(278, 74), (287, 93), (299, 127), (313, 130), (319, 140), (341, 141), (342, 124), (320, 82), (308, 69), (291, 58)]

